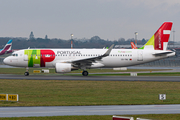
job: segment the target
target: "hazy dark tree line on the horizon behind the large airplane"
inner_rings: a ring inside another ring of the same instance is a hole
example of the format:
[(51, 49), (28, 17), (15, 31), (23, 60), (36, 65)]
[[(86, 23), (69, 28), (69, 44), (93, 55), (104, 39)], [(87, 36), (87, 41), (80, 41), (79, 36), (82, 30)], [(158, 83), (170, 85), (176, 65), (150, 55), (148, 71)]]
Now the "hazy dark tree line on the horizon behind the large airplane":
[[(134, 38), (125, 40), (120, 38), (118, 40), (110, 41), (101, 39), (99, 36), (93, 36), (90, 39), (49, 39), (46, 35), (45, 38), (22, 38), (22, 37), (0, 37), (0, 48), (7, 43), (9, 39), (13, 40), (12, 49), (27, 49), (30, 48), (70, 48), (71, 41), (73, 41), (73, 48), (103, 48), (109, 47), (112, 44), (120, 45), (130, 45), (130, 42), (135, 42)], [(138, 40), (138, 45), (144, 45), (147, 40)]]

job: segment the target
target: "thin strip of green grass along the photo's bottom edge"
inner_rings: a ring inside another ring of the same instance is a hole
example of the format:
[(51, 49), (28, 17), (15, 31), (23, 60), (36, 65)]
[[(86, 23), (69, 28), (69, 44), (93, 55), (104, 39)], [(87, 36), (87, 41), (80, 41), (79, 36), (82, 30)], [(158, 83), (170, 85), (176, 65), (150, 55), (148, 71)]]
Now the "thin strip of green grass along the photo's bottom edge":
[[(155, 120), (179, 120), (180, 114), (150, 114), (150, 115), (120, 115), (124, 117), (146, 118)], [(112, 120), (112, 115), (91, 116), (52, 116), (52, 117), (14, 117), (0, 118), (0, 120)]]

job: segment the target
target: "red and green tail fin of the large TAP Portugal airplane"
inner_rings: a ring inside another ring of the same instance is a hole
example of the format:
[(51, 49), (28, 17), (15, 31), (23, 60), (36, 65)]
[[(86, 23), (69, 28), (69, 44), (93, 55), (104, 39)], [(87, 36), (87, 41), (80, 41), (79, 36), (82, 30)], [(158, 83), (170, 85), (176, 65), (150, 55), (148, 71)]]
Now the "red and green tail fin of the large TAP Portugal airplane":
[(161, 27), (154, 33), (149, 41), (140, 49), (146, 46), (153, 46), (154, 50), (166, 50), (169, 36), (171, 33), (172, 22), (164, 22)]

